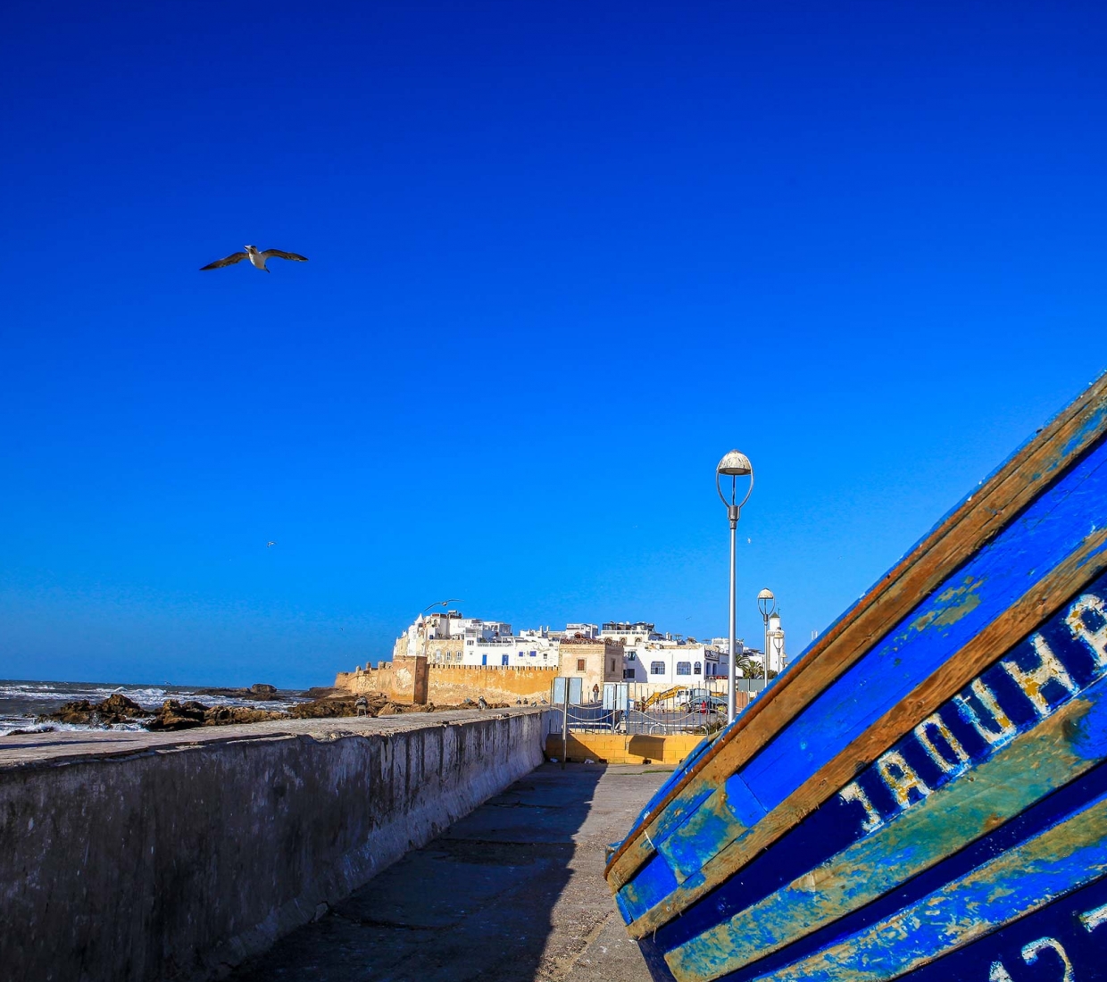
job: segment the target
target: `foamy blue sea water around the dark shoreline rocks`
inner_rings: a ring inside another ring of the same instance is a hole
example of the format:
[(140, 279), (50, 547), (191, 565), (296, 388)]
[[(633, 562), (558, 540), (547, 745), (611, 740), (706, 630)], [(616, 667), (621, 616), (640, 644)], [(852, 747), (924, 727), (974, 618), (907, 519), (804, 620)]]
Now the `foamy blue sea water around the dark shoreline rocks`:
[[(91, 730), (91, 726), (79, 726), (66, 723), (35, 723), (34, 719), (43, 713), (61, 709), (62, 703), (77, 699), (90, 702), (103, 702), (113, 692), (118, 692), (134, 700), (144, 710), (156, 710), (167, 699), (196, 699), (209, 706), (255, 706), (259, 710), (287, 710), (298, 702), (309, 699), (299, 691), (280, 691), (278, 699), (260, 702), (239, 699), (230, 695), (208, 695), (200, 690), (203, 685), (127, 685), (113, 682), (20, 682), (0, 680), (0, 736), (7, 736), (13, 730), (23, 732), (41, 732), (52, 730)], [(110, 730), (142, 730), (137, 723), (121, 723)]]

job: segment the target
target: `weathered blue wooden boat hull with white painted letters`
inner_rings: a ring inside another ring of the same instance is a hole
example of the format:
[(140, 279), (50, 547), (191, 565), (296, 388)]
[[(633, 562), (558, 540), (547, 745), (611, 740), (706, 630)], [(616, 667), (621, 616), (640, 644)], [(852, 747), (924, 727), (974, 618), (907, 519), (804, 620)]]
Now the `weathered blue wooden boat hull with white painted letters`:
[(608, 879), (658, 980), (1107, 980), (1107, 379), (697, 748)]

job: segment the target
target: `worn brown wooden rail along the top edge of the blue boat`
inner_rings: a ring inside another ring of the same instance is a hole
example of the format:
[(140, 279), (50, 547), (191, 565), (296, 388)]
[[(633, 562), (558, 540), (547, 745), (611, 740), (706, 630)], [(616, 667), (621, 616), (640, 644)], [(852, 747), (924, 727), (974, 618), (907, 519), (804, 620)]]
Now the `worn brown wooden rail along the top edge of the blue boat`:
[[(782, 731), (808, 705), (835, 683), (858, 660), (871, 651), (911, 609), (955, 573), (1000, 531), (1008, 527), (1023, 509), (1072, 469), (1107, 433), (1107, 373), (1101, 374), (1072, 403), (1042, 426), (981, 485), (941, 518), (872, 587), (869, 588), (827, 632), (818, 639), (787, 672), (777, 678), (749, 705), (732, 727), (724, 730), (703, 755), (683, 774), (665, 797), (642, 816), (610, 857), (604, 869), (612, 891), (618, 891), (655, 850), (648, 829), (673, 800), (727, 748), (736, 745), (738, 771), (772, 735)], [(1059, 444), (1059, 446), (1058, 446)], [(1026, 471), (1031, 473), (1027, 475)], [(973, 523), (975, 521), (975, 525)], [(960, 534), (960, 535), (959, 535)], [(966, 538), (969, 541), (961, 541)], [(875, 622), (872, 622), (875, 621)], [(853, 634), (861, 637), (848, 642)], [(821, 669), (821, 672), (819, 671)], [(803, 680), (800, 684), (799, 680)], [(800, 684), (799, 694), (796, 685)], [(790, 700), (788, 695), (793, 694)], [(784, 702), (782, 703), (782, 700)], [(774, 712), (775, 711), (775, 712)], [(769, 713), (768, 722), (758, 721)], [(777, 719), (774, 720), (773, 716)], [(753, 746), (751, 726), (772, 731)], [(642, 855), (628, 866), (628, 852), (645, 840)]]

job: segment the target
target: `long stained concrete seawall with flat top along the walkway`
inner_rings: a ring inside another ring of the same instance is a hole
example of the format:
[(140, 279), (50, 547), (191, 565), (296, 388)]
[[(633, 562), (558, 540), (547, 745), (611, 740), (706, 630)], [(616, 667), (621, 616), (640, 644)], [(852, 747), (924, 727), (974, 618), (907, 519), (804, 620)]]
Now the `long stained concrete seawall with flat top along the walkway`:
[(0, 979), (218, 978), (542, 759), (539, 711), (0, 741)]

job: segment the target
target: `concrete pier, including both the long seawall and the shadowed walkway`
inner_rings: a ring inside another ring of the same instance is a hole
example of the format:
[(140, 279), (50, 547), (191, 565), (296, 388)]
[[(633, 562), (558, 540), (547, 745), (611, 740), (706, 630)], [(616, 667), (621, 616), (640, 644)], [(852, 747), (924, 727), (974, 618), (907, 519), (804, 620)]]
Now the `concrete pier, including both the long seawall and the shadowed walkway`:
[(668, 768), (544, 764), (547, 725), (6, 737), (0, 978), (645, 979), (603, 847)]

